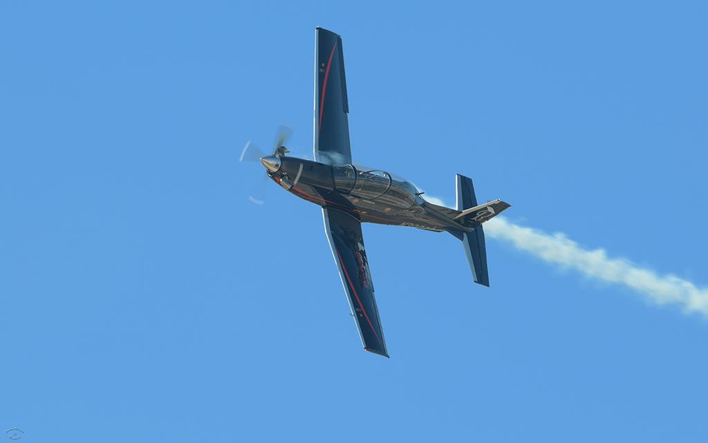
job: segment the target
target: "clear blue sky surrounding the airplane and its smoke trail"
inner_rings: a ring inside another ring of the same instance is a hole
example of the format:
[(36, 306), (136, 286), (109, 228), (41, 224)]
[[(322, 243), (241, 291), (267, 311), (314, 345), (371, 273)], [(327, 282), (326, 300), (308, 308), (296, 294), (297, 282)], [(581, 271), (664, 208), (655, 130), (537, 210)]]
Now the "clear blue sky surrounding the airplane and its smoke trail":
[(311, 155), (323, 26), (358, 162), (704, 287), (706, 4), (298, 3), (0, 3), (1, 431), (705, 442), (705, 318), (496, 240), (483, 288), (452, 236), (366, 225), (368, 354), (319, 208), (237, 158), (279, 123)]

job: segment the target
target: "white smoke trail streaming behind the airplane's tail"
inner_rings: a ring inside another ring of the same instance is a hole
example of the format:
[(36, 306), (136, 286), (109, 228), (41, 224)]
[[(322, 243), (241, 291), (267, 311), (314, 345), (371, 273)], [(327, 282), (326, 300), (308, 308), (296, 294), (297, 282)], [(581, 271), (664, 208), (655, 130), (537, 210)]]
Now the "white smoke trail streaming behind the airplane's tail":
[(546, 262), (576, 269), (599, 281), (627, 286), (653, 303), (679, 305), (687, 313), (708, 318), (708, 288), (697, 288), (677, 276), (658, 275), (627, 259), (607, 257), (604, 249), (584, 249), (562, 233), (549, 235), (503, 217), (485, 223), (484, 232)]

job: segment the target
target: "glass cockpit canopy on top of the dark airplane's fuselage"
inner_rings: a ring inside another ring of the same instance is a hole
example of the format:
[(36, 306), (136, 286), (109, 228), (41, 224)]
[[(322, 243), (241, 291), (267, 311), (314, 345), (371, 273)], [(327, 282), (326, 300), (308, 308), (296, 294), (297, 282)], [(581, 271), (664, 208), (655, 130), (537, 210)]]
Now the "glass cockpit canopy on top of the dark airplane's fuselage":
[(410, 181), (380, 169), (346, 164), (333, 167), (333, 174), (339, 191), (370, 201), (410, 208), (420, 199), (418, 189)]

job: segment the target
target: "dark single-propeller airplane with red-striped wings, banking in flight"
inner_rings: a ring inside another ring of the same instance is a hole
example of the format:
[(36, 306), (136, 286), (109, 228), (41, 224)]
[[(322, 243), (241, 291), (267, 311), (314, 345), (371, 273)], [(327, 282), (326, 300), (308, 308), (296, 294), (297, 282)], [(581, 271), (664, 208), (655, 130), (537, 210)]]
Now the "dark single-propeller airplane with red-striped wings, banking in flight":
[(321, 206), (324, 231), (364, 349), (389, 357), (361, 224), (450, 232), (462, 241), (474, 281), (489, 286), (482, 223), (510, 205), (501, 200), (478, 203), (472, 179), (457, 174), (457, 208), (446, 208), (426, 201), (410, 181), (353, 163), (342, 39), (319, 27), (314, 79), (314, 162), (287, 156), (282, 136), (273, 155), (260, 161), (275, 183)]

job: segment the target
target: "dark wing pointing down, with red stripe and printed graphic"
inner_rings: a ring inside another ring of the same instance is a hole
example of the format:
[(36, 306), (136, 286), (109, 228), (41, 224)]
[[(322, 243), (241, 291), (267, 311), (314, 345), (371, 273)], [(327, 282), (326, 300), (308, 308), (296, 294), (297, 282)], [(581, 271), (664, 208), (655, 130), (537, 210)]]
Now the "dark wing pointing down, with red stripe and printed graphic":
[(364, 349), (389, 357), (374, 298), (361, 223), (336, 209), (322, 208), (322, 213), (324, 230)]

